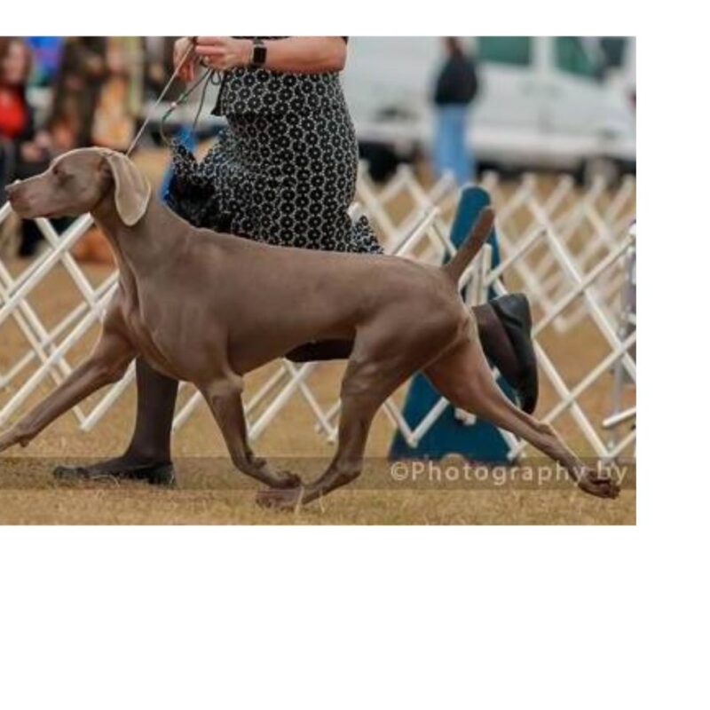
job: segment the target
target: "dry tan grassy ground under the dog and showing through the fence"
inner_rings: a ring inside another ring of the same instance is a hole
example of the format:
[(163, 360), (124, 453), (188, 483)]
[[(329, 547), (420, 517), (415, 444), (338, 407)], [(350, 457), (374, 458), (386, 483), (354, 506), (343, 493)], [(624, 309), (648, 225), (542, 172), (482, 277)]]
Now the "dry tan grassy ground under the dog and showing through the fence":
[[(26, 264), (11, 264), (17, 272)], [(110, 272), (107, 267), (86, 268), (96, 285)], [(78, 303), (75, 287), (63, 269), (54, 269), (33, 293), (30, 302), (43, 323), (51, 328)], [(92, 330), (70, 352), (77, 362), (91, 346)], [(11, 321), (0, 329), (0, 374), (27, 350), (20, 329)], [(564, 365), (565, 381), (579, 382), (608, 351), (596, 327), (583, 321), (563, 335), (548, 328), (543, 346), (557, 363)], [(571, 345), (572, 343), (572, 345)], [(33, 365), (36, 367), (36, 364)], [(248, 392), (256, 390), (275, 366), (264, 367), (248, 376)], [(28, 376), (30, 368), (27, 370)], [(343, 366), (338, 363), (318, 367), (309, 383), (324, 404), (335, 401)], [(12, 396), (23, 377), (13, 387), (0, 391), (0, 404)], [(598, 386), (584, 395), (585, 411), (596, 423), (610, 413), (611, 372)], [(0, 524), (258, 524), (258, 525), (634, 525), (635, 486), (627, 486), (616, 501), (600, 501), (580, 493), (572, 485), (525, 488), (505, 485), (496, 488), (460, 485), (417, 487), (391, 485), (385, 461), (392, 427), (379, 414), (367, 446), (368, 464), (359, 485), (312, 503), (296, 513), (284, 514), (259, 509), (256, 489), (245, 485), (240, 474), (225, 462), (225, 445), (204, 404), (174, 437), (177, 460), (177, 487), (155, 489), (140, 483), (114, 481), (86, 484), (58, 483), (51, 477), (57, 461), (95, 459), (115, 455), (130, 435), (135, 406), (134, 386), (130, 386), (112, 409), (90, 432), (77, 427), (72, 414), (65, 414), (27, 449), (13, 449), (0, 459)], [(49, 381), (21, 408), (35, 403), (51, 390)], [(181, 392), (180, 401), (190, 394)], [(402, 393), (398, 394), (401, 399)], [(633, 402), (634, 391), (625, 393)], [(90, 411), (94, 396), (83, 407)], [(543, 377), (539, 412), (544, 414), (556, 401), (550, 383)], [(591, 456), (585, 438), (569, 414), (555, 422), (556, 429), (570, 446), (583, 456)], [(256, 443), (256, 451), (267, 458), (288, 457), (294, 468), (305, 469), (306, 478), (315, 477), (320, 465), (333, 453), (333, 446), (315, 430), (313, 416), (304, 399), (296, 394), (277, 420)], [(629, 452), (629, 454), (633, 454)], [(217, 458), (213, 458), (217, 457)], [(214, 461), (214, 464), (213, 464)], [(212, 475), (210, 469), (218, 469)], [(388, 482), (390, 485), (388, 485)]]

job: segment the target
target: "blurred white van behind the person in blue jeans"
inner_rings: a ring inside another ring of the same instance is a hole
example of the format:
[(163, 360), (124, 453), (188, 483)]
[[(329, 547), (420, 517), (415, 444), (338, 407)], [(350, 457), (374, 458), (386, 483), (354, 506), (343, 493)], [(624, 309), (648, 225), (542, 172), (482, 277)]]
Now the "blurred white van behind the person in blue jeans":
[[(580, 175), (635, 169), (634, 108), (618, 86), (604, 80), (588, 38), (464, 42), (479, 70), (469, 130), (478, 163)], [(400, 159), (428, 151), (433, 83), (444, 59), (441, 37), (351, 38), (342, 80), (362, 146)]]

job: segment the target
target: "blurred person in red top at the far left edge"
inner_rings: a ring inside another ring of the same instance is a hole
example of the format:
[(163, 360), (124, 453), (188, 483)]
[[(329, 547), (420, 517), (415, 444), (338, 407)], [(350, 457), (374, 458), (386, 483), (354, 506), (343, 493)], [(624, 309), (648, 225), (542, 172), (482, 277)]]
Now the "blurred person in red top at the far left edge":
[[(27, 84), (32, 54), (21, 37), (0, 37), (0, 203), (4, 185), (46, 170), (51, 160), (51, 138), (36, 130), (28, 104)], [(32, 256), (42, 235), (32, 220), (22, 221), (20, 256)]]

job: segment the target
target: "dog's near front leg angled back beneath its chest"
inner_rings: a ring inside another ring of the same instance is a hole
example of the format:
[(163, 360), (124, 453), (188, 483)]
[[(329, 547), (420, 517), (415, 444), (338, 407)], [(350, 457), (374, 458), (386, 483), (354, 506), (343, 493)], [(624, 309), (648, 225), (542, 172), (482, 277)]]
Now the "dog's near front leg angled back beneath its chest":
[(247, 440), (247, 422), (241, 404), (241, 377), (218, 380), (201, 386), (209, 409), (225, 438), (225, 444), (237, 469), (270, 488), (291, 488), (301, 485), (301, 479), (290, 472), (272, 471), (264, 459), (257, 458)]

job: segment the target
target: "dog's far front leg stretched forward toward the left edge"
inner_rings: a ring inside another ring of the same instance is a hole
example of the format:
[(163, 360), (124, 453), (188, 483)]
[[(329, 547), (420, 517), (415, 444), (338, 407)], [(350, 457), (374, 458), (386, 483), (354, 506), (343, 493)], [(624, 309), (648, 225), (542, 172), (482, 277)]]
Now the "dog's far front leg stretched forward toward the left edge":
[(102, 333), (89, 359), (84, 360), (49, 397), (0, 436), (0, 452), (15, 444), (27, 446), (60, 414), (87, 398), (91, 392), (120, 380), (135, 354), (130, 343), (121, 335)]

